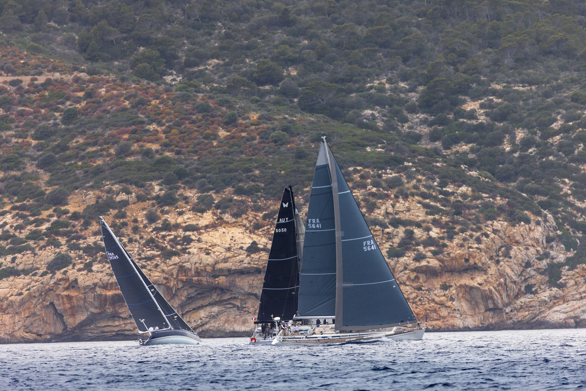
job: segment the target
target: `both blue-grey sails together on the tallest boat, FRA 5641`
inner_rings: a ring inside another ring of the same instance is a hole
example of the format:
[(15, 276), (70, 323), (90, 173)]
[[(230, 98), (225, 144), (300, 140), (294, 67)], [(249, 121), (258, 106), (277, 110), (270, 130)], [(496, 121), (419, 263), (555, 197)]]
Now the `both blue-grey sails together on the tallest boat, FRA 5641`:
[(298, 317), (335, 315), (339, 331), (417, 323), (325, 137), (307, 217)]

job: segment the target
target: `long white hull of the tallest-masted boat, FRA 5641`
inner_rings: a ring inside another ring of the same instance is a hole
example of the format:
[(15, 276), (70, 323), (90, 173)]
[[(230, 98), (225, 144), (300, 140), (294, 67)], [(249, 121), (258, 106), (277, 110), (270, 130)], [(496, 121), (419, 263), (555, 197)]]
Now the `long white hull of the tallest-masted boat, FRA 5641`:
[(347, 334), (314, 334), (310, 336), (281, 336), (277, 335), (272, 345), (340, 345), (354, 342), (410, 340), (423, 339), (425, 328), (414, 331), (396, 333), (393, 331), (347, 333)]

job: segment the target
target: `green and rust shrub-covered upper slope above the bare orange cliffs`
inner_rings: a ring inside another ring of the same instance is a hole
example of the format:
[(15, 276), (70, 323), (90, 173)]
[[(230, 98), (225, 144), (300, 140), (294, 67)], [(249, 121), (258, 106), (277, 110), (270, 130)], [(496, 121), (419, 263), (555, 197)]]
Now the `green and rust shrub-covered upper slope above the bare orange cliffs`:
[[(120, 184), (155, 214), (191, 188), (199, 213), (241, 216), (218, 195), (305, 188), (325, 132), (340, 165), (359, 167), (351, 186), (370, 186), (365, 212), (414, 197), (440, 242), (475, 242), (486, 221), (547, 210), (574, 267), (586, 261), (584, 16), (577, 1), (2, 2), (0, 213), (40, 226), (71, 192)], [(89, 227), (117, 209), (105, 196), (54, 213)], [(3, 229), (6, 255), (35, 240)], [(79, 234), (39, 237), (64, 233)], [(418, 246), (407, 235), (392, 254)]]

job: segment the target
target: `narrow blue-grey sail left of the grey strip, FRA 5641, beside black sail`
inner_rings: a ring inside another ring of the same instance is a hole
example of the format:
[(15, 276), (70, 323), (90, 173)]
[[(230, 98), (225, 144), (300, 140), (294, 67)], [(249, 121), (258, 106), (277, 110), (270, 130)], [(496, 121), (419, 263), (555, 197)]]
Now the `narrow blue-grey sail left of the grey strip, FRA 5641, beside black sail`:
[(299, 286), (301, 317), (332, 317), (336, 312), (336, 232), (331, 185), (322, 145), (305, 226)]

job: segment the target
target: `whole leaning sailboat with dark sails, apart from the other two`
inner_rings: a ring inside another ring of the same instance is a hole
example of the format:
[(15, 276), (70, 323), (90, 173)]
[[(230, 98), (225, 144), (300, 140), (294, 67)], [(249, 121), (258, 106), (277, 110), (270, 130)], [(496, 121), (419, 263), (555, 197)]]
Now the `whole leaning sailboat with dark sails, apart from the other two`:
[(141, 345), (199, 344), (197, 333), (173, 310), (100, 217), (102, 239), (122, 297), (137, 325), (149, 337)]

